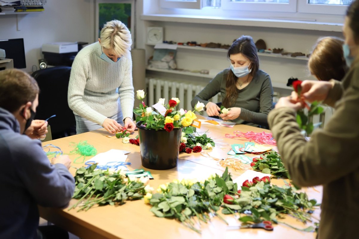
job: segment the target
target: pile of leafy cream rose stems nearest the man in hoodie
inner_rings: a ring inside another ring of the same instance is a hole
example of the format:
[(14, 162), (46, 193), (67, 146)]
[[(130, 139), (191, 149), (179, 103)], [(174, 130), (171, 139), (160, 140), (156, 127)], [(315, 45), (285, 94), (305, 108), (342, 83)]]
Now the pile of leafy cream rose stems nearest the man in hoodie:
[(81, 210), (94, 205), (124, 204), (126, 200), (142, 199), (146, 194), (145, 185), (137, 178), (127, 178), (124, 171), (109, 171), (96, 168), (97, 164), (77, 169), (75, 175), (74, 199), (79, 201), (69, 208), (80, 204)]

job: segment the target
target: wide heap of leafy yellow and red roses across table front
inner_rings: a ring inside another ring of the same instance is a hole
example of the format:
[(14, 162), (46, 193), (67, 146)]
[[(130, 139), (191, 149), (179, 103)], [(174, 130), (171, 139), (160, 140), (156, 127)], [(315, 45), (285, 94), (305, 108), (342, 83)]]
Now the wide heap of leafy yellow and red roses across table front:
[[(247, 180), (238, 190), (228, 168), (222, 176), (216, 174), (202, 182), (175, 180), (160, 185), (157, 191), (145, 197), (145, 202), (152, 205), (151, 212), (158, 217), (177, 219), (198, 233), (201, 222), (207, 223), (211, 216), (226, 222), (218, 214), (221, 207), (222, 214), (235, 214), (242, 223), (263, 220), (278, 223), (281, 214), (289, 214), (306, 223), (311, 221), (309, 212), (318, 206), (316, 200), (308, 200), (306, 193), (297, 193), (289, 185), (271, 185), (269, 177)], [(313, 231), (314, 228), (304, 230)]]

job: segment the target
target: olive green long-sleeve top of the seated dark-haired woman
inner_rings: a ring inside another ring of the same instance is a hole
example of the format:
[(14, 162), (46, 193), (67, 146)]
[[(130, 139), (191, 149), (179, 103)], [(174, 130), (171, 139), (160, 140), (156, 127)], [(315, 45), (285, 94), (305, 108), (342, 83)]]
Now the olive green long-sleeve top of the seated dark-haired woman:
[[(222, 101), (226, 96), (226, 82), (230, 68), (218, 73), (208, 85), (191, 101), (192, 107), (197, 101), (207, 104), (209, 99), (220, 92)], [(237, 89), (237, 99), (230, 107), (240, 107), (241, 114), (237, 119), (229, 120), (236, 124), (247, 124), (257, 127), (267, 125), (267, 115), (273, 104), (273, 88), (270, 77), (258, 70), (252, 81), (243, 89)], [(214, 102), (216, 103), (216, 102)]]

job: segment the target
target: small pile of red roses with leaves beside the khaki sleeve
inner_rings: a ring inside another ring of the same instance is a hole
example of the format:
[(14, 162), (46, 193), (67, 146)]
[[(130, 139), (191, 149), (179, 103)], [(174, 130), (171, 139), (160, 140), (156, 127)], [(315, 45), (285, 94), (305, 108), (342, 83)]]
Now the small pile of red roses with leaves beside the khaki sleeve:
[(253, 170), (262, 173), (268, 173), (276, 177), (289, 178), (288, 170), (284, 168), (284, 164), (280, 155), (275, 151), (262, 154), (259, 158), (253, 158), (251, 164)]

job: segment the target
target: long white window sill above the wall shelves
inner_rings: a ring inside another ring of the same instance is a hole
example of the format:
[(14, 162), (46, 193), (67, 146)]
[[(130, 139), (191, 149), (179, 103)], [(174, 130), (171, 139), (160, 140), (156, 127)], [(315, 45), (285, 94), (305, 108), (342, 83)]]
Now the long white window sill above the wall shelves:
[(172, 21), (182, 23), (200, 23), (216, 25), (237, 25), (248, 27), (269, 27), (286, 29), (305, 29), (341, 32), (342, 23), (324, 23), (317, 21), (286, 20), (286, 19), (259, 19), (259, 18), (223, 18), (218, 16), (195, 16), (175, 14), (143, 14), (141, 20)]

